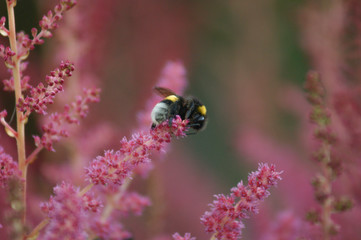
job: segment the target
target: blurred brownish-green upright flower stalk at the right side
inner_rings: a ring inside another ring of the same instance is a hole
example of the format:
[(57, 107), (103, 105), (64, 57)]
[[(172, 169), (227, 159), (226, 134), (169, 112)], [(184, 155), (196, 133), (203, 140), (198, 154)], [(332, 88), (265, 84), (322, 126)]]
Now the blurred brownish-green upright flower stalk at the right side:
[(331, 147), (336, 143), (336, 137), (330, 128), (331, 117), (326, 107), (325, 89), (320, 76), (315, 71), (307, 75), (305, 89), (308, 91), (308, 100), (312, 105), (310, 120), (316, 125), (314, 136), (319, 141), (319, 149), (315, 158), (320, 165), (320, 173), (313, 180), (315, 198), (320, 204), (320, 213), (316, 219), (323, 232), (323, 239), (329, 240), (338, 233), (339, 226), (332, 220), (335, 204), (335, 193), (332, 184), (338, 175), (339, 169), (333, 168)]

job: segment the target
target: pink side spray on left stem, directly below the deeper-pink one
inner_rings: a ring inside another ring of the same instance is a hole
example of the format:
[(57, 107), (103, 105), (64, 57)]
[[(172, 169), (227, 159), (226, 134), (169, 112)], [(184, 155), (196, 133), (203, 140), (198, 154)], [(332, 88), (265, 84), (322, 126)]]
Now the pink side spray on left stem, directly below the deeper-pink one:
[(64, 112), (53, 113), (49, 120), (42, 126), (44, 134), (34, 136), (35, 145), (44, 147), (49, 151), (54, 151), (53, 144), (62, 137), (68, 136), (66, 126), (69, 124), (78, 124), (80, 118), (84, 118), (89, 111), (89, 103), (99, 101), (99, 89), (84, 89), (83, 96), (64, 107)]

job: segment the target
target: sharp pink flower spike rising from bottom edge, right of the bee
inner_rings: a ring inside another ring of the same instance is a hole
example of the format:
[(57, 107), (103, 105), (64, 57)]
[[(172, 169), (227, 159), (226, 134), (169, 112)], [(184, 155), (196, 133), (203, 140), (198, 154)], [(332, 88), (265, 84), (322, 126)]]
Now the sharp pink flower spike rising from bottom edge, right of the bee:
[(241, 238), (244, 228), (241, 220), (248, 218), (250, 212), (258, 212), (260, 201), (269, 196), (268, 189), (277, 184), (281, 173), (276, 172), (274, 165), (259, 164), (258, 170), (248, 176), (248, 186), (241, 181), (231, 189), (230, 195), (215, 195), (211, 211), (201, 218), (206, 232), (214, 233), (216, 239)]

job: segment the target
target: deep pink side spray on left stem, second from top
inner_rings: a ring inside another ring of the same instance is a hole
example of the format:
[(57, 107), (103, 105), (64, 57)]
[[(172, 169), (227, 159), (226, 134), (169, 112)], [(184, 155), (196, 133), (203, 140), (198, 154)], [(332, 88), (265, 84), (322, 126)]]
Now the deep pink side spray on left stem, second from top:
[(63, 91), (63, 83), (66, 77), (70, 77), (74, 71), (74, 66), (70, 62), (62, 62), (59, 68), (46, 76), (47, 86), (39, 83), (35, 88), (31, 88), (30, 96), (25, 99), (20, 98), (18, 108), (29, 116), (32, 111), (46, 114), (47, 104), (52, 104), (57, 93)]

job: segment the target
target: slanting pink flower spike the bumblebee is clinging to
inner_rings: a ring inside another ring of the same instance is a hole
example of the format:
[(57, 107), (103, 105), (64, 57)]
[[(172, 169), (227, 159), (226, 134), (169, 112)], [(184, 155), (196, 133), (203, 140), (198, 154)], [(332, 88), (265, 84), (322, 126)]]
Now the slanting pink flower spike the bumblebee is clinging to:
[(133, 134), (132, 139), (124, 138), (120, 150), (105, 151), (86, 168), (88, 180), (94, 184), (122, 184), (131, 177), (133, 170), (142, 164), (150, 162), (149, 154), (152, 150), (161, 151), (171, 137), (183, 137), (187, 130), (187, 120), (179, 116), (173, 119), (171, 125), (168, 121), (158, 125), (149, 133)]

